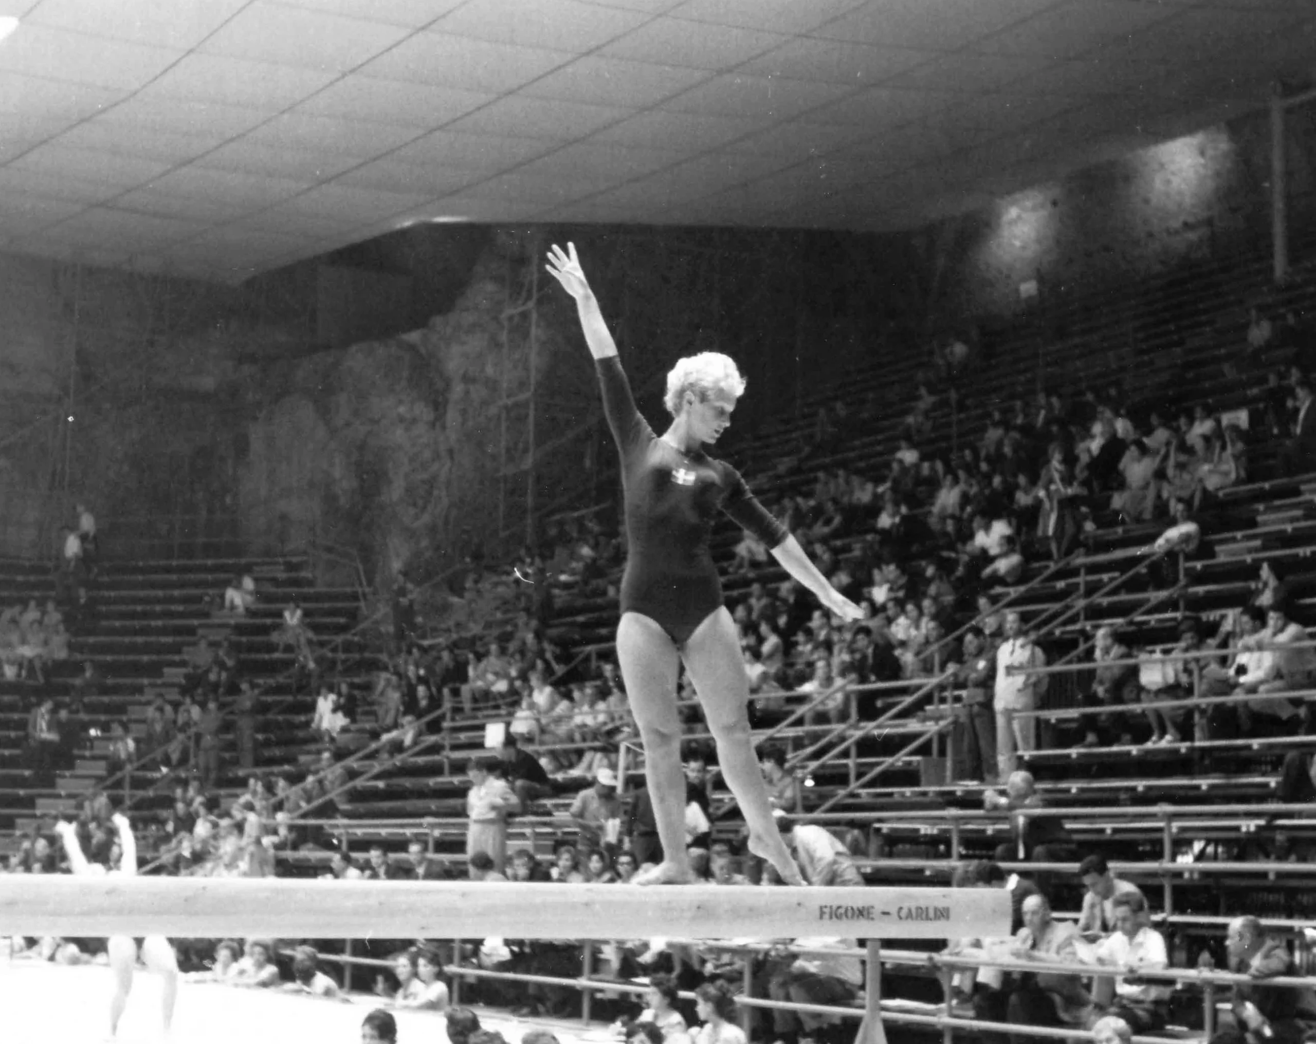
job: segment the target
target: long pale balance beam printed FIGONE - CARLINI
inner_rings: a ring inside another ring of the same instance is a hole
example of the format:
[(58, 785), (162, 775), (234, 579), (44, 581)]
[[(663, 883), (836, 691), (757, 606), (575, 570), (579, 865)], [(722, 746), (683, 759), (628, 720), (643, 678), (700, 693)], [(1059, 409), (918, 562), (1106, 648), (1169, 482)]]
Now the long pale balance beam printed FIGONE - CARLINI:
[(0, 876), (0, 936), (1001, 937), (1004, 889)]

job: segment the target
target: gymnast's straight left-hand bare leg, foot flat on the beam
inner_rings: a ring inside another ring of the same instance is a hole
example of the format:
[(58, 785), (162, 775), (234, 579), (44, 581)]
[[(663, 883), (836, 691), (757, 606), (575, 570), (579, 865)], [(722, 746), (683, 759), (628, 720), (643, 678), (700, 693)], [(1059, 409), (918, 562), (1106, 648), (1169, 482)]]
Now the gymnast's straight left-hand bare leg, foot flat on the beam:
[(680, 769), (676, 713), (680, 656), (658, 623), (640, 613), (625, 613), (617, 625), (617, 664), (645, 744), (645, 781), (663, 852), (658, 866), (632, 882), (686, 884), (694, 874), (686, 855), (686, 776)]

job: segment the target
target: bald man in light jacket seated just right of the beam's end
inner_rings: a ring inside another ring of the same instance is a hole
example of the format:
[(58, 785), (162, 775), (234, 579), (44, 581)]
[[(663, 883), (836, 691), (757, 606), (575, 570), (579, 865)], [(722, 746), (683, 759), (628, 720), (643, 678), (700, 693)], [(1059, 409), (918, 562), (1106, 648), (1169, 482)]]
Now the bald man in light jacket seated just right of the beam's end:
[[(1079, 934), (1074, 924), (1055, 920), (1045, 895), (1024, 901), (1024, 927), (1015, 939), (1012, 956), (1020, 961), (1076, 964)], [(1016, 1026), (1082, 1027), (1091, 1011), (1091, 997), (1078, 974), (1024, 973), (1009, 991), (1007, 1019)], [(1011, 1035), (1013, 1044), (1032, 1044), (1034, 1037)]]

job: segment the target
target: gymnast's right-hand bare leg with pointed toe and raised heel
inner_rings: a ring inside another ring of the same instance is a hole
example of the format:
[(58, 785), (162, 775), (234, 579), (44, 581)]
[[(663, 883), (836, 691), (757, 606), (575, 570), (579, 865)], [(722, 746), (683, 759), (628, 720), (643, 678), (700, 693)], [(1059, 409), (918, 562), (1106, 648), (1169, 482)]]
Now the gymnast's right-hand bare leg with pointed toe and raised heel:
[(750, 734), (749, 680), (736, 623), (725, 606), (690, 636), (682, 659), (704, 707), (704, 721), (717, 742), (717, 765), (749, 826), (749, 849), (766, 859), (788, 885), (803, 885), (800, 869), (772, 819), (767, 784)]

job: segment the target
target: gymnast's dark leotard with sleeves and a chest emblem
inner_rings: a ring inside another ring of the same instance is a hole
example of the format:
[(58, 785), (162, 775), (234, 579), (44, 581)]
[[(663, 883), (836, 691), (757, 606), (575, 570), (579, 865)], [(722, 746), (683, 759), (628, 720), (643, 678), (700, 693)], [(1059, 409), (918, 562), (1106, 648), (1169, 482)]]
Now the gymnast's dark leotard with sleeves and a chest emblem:
[(682, 454), (654, 435), (636, 409), (617, 356), (599, 359), (597, 369), (603, 409), (621, 452), (628, 540), (621, 611), (642, 613), (680, 646), (722, 605), (708, 548), (717, 513), (725, 511), (767, 547), (788, 534), (730, 464), (701, 450)]

